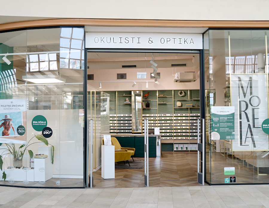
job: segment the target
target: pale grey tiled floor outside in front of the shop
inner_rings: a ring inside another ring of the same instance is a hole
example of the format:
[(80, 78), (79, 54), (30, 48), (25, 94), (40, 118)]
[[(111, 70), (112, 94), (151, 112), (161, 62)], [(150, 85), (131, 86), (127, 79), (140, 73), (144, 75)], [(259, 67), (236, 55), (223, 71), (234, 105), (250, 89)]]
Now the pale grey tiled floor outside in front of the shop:
[(269, 185), (26, 189), (0, 186), (0, 208), (269, 208)]

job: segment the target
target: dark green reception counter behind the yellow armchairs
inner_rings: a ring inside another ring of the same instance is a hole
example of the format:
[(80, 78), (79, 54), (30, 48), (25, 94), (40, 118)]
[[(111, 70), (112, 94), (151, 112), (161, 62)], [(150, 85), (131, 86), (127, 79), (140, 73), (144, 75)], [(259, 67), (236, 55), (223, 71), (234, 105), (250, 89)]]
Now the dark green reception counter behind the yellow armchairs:
[[(122, 147), (135, 148), (134, 157), (144, 157), (144, 134), (110, 134), (116, 137)], [(156, 157), (157, 143), (161, 135), (149, 134), (149, 157)]]

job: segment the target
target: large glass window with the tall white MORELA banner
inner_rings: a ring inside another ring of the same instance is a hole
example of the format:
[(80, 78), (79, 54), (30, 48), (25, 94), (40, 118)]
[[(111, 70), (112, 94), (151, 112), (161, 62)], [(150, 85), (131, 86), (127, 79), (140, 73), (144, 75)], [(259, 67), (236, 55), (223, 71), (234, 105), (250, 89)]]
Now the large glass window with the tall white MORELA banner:
[(268, 32), (204, 34), (209, 183), (269, 182)]

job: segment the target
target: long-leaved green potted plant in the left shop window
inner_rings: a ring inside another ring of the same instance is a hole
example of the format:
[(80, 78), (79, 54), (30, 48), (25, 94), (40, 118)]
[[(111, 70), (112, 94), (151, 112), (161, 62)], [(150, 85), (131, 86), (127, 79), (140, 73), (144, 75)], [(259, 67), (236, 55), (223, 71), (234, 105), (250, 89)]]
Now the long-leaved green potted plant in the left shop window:
[[(13, 156), (13, 166), (14, 167), (22, 167), (22, 158), (23, 158), (23, 155), (25, 154), (25, 151), (27, 150), (27, 148), (30, 145), (32, 145), (32, 144), (39, 143), (39, 142), (33, 142), (33, 143), (29, 144), (30, 141), (34, 137), (36, 137), (36, 139), (38, 139), (40, 142), (43, 142), (45, 145), (47, 145), (47, 146), (49, 145), (48, 140), (44, 136), (42, 136), (42, 135), (35, 135), (35, 136), (33, 136), (29, 140), (29, 142), (27, 142), (27, 144), (21, 145), (18, 150), (16, 149), (14, 143), (11, 143), (11, 144), (6, 143), (6, 145), (7, 145), (6, 147), (7, 148), (4, 148), (6, 150), (3, 151), (3, 153), (0, 155), (0, 168), (1, 168), (1, 171), (2, 171), (3, 164), (4, 164), (4, 161), (2, 159), (2, 156), (7, 155), (7, 154), (10, 154), (10, 155)], [(51, 163), (53, 164), (53, 160), (54, 160), (54, 146), (53, 145), (51, 145), (51, 146), (52, 146), (52, 161), (51, 161)], [(28, 153), (29, 153), (30, 157), (33, 158), (33, 151), (32, 150), (28, 150)], [(7, 176), (7, 174), (4, 171), (2, 178), (4, 180), (6, 180), (6, 176)]]

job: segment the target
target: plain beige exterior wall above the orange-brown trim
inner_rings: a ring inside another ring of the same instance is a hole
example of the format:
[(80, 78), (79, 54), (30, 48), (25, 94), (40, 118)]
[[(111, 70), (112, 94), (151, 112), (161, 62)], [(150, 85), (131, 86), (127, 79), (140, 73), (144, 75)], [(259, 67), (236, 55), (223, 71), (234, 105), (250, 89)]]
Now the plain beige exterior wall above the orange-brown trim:
[[(10, 8), (10, 2), (2, 1), (1, 7)], [(21, 21), (31, 17), (264, 21), (269, 19), (268, 7), (267, 0), (14, 0), (12, 8), (2, 9), (1, 15), (21, 16)]]

